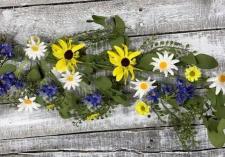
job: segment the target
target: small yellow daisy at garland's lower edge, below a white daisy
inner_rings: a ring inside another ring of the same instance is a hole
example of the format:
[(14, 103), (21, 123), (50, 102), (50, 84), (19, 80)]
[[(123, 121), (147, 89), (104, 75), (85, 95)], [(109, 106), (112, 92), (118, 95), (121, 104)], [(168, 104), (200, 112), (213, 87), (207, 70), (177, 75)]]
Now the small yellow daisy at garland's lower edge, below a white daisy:
[(150, 111), (151, 111), (151, 107), (149, 105), (147, 105), (145, 102), (138, 100), (135, 103), (135, 111), (142, 116), (147, 116), (149, 115)]

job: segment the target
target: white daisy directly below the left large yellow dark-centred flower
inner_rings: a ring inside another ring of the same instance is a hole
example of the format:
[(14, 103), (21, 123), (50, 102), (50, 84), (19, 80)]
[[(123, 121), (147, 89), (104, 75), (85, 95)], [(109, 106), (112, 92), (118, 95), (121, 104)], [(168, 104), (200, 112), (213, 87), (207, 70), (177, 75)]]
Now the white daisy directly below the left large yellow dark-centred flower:
[(65, 89), (71, 90), (80, 86), (81, 75), (79, 74), (79, 72), (72, 74), (67, 71), (65, 74), (62, 74), (62, 78), (60, 78), (59, 80), (64, 83)]

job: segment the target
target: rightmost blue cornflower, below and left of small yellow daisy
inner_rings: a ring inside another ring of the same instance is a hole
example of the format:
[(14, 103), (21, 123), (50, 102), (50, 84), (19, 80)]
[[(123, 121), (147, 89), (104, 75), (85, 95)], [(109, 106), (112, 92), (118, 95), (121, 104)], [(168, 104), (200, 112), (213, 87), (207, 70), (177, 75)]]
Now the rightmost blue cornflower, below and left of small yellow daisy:
[(195, 87), (193, 85), (187, 85), (184, 80), (178, 78), (176, 81), (176, 87), (176, 101), (178, 104), (183, 104), (186, 100), (194, 96)]

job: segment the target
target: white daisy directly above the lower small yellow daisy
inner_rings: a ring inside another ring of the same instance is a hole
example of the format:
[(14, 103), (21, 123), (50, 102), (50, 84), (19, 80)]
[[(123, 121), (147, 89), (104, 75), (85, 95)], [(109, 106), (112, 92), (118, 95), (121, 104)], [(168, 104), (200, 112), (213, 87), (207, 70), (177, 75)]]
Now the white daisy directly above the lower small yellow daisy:
[(137, 90), (134, 97), (139, 97), (139, 99), (141, 99), (150, 90), (156, 88), (156, 86), (153, 86), (153, 83), (155, 83), (156, 81), (155, 80), (150, 81), (150, 80), (151, 80), (151, 77), (148, 77), (146, 81), (143, 81), (143, 80), (140, 81), (138, 79), (136, 79), (136, 81), (131, 81), (131, 84), (134, 85), (134, 87), (131, 87), (131, 88)]

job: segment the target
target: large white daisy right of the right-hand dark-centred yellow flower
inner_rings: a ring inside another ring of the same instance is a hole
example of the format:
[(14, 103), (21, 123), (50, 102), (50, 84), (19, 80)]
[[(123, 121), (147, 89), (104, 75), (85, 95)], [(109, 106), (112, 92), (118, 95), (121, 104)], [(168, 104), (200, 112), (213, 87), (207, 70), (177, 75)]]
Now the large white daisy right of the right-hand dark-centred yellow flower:
[(158, 58), (152, 58), (154, 62), (151, 63), (151, 65), (154, 66), (153, 71), (159, 70), (160, 72), (163, 72), (165, 74), (165, 77), (168, 76), (168, 73), (171, 75), (174, 75), (173, 70), (178, 70), (178, 68), (175, 66), (176, 63), (179, 62), (178, 59), (173, 59), (174, 54), (170, 54), (165, 51), (162, 54), (157, 53)]

